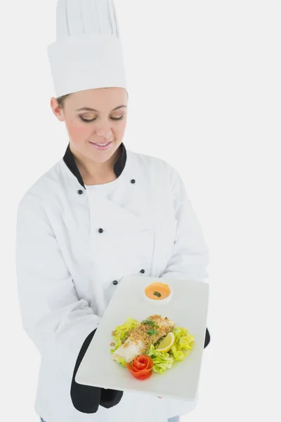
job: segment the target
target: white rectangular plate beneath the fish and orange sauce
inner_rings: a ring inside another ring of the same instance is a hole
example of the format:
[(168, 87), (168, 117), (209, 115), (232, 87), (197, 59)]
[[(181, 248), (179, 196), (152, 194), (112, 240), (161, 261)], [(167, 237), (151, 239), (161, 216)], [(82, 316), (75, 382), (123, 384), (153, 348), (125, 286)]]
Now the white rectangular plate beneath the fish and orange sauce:
[[(143, 298), (145, 286), (155, 281), (169, 284), (174, 290), (166, 305), (150, 305)], [(141, 392), (171, 399), (195, 400), (200, 379), (202, 352), (207, 325), (209, 285), (199, 281), (126, 276), (108, 305), (98, 329), (84, 355), (75, 381), (112, 390)], [(110, 343), (112, 331), (131, 316), (138, 322), (152, 314), (176, 321), (175, 326), (187, 328), (195, 336), (192, 350), (182, 362), (177, 362), (162, 375), (140, 381), (126, 367), (112, 360)]]

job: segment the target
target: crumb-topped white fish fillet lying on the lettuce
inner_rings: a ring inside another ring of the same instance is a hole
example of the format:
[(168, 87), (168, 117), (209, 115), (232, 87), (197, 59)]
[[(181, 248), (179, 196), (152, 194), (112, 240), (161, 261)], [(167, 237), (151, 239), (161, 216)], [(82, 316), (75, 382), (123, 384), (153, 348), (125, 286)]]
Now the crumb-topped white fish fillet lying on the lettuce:
[[(150, 324), (138, 324), (136, 328), (131, 331), (129, 337), (126, 339), (124, 344), (118, 347), (112, 354), (112, 359), (118, 359), (122, 357), (125, 362), (132, 362), (133, 359), (138, 357), (140, 354), (148, 352), (150, 345), (155, 344), (159, 338), (167, 335), (174, 328), (175, 321), (171, 321), (168, 318), (163, 318), (161, 315), (148, 316), (146, 321), (152, 321), (159, 328)], [(155, 329), (157, 333), (150, 335), (147, 333), (149, 330)]]

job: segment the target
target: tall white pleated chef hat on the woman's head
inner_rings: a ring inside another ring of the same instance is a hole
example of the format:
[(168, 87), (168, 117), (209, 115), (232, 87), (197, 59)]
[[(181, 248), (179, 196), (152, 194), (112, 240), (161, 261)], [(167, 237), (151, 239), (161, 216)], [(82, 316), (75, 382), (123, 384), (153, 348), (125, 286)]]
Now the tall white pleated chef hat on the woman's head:
[(58, 0), (56, 41), (47, 51), (57, 97), (93, 88), (126, 89), (113, 0)]

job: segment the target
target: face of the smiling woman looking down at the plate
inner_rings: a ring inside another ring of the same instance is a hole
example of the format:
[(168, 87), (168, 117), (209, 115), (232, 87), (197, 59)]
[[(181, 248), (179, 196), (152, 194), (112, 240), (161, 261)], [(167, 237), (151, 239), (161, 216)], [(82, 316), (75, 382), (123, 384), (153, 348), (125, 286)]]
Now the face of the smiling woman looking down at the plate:
[[(51, 108), (65, 122), (74, 150), (89, 160), (105, 162), (122, 143), (127, 102), (124, 88), (97, 88), (71, 94), (65, 98), (64, 109), (52, 97)], [(100, 148), (96, 143), (110, 144)]]

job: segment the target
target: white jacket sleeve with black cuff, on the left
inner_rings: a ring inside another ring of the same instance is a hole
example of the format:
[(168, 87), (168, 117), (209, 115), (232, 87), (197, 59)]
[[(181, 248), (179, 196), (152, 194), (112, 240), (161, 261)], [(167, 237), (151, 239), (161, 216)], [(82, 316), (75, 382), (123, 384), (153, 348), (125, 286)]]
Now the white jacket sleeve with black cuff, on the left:
[(67, 377), (73, 373), (74, 407), (95, 413), (99, 404), (115, 406), (122, 392), (74, 381), (100, 317), (85, 299), (78, 298), (44, 205), (31, 193), (18, 205), (15, 267), (22, 326), (42, 357), (60, 366)]

